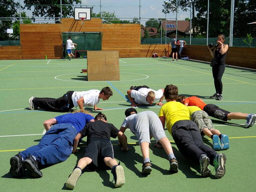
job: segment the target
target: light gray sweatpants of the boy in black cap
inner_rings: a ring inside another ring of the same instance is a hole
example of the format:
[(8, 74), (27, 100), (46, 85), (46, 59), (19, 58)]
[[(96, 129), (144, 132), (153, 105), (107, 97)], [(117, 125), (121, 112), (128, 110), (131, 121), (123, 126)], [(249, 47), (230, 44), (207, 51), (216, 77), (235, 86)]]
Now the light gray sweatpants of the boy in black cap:
[(134, 126), (139, 143), (150, 143), (150, 135), (153, 135), (156, 142), (166, 137), (163, 125), (153, 111), (142, 111), (138, 113), (134, 120)]

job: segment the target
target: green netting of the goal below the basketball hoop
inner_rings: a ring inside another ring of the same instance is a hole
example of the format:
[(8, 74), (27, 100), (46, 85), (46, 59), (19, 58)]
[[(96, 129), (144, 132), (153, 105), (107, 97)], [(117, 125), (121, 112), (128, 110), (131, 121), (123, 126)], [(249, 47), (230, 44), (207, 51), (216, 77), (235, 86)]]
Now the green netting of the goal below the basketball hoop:
[(68, 36), (77, 44), (76, 51), (101, 51), (101, 32), (63, 32), (62, 40), (65, 45)]

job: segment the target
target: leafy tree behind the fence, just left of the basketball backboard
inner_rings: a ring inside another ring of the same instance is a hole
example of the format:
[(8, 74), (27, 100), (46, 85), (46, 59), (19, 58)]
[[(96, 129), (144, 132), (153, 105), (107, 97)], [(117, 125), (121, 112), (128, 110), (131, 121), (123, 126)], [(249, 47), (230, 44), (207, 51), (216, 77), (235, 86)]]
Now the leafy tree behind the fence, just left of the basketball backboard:
[[(74, 16), (74, 4), (81, 4), (81, 0), (62, 0), (62, 4), (68, 4), (62, 6), (62, 17), (73, 17)], [(25, 7), (28, 10), (31, 10), (31, 7), (34, 8), (32, 12), (34, 17), (45, 17), (45, 18), (60, 18), (60, 0), (24, 0)], [(70, 4), (70, 6), (69, 6)], [(55, 21), (58, 23), (58, 21)]]

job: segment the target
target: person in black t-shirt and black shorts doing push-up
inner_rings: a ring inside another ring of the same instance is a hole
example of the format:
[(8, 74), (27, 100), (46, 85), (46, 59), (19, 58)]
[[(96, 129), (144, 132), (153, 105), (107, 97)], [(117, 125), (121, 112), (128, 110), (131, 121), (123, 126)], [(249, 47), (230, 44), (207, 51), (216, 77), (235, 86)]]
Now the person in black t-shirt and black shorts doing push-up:
[[(76, 168), (66, 182), (66, 187), (75, 188), (76, 181), (85, 167), (91, 171), (97, 168), (107, 169), (110, 167), (114, 176), (115, 187), (124, 185), (124, 169), (114, 159), (113, 147), (110, 142), (110, 137), (116, 138), (117, 136), (121, 140), (127, 140), (123, 132), (119, 131), (113, 124), (107, 123), (107, 117), (103, 113), (98, 113), (94, 122), (86, 124), (84, 129), (76, 135), (73, 151), (76, 151), (79, 139), (85, 136), (87, 136), (87, 148), (84, 157), (78, 161)], [(129, 148), (127, 145), (123, 145), (121, 150), (128, 151)]]

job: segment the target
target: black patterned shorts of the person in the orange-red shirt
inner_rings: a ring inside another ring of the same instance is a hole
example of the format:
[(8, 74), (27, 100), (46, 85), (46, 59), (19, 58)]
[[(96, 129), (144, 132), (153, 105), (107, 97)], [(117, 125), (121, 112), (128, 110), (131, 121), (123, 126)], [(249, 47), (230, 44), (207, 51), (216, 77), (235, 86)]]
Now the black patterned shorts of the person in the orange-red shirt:
[(219, 108), (213, 104), (207, 104), (204, 106), (204, 111), (208, 113), (209, 116), (220, 119), (222, 121), (228, 121), (229, 111)]

